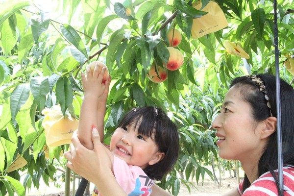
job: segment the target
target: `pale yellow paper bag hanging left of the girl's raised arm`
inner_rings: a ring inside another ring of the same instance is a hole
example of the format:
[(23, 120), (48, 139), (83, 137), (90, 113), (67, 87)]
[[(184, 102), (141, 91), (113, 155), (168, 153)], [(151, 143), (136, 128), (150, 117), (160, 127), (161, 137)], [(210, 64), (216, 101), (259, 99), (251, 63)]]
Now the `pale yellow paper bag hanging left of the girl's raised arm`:
[(77, 129), (78, 121), (68, 111), (63, 117), (60, 105), (54, 105), (50, 109), (46, 108), (42, 114), (45, 115), (42, 125), (45, 129), (46, 144), (49, 147), (71, 144), (71, 138)]

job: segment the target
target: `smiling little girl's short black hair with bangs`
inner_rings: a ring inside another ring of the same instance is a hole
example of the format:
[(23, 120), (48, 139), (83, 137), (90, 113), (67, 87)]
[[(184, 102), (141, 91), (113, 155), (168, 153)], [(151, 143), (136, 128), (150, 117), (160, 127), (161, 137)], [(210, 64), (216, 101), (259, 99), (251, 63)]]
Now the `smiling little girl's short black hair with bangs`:
[(119, 123), (119, 127), (134, 124), (138, 126), (138, 133), (151, 137), (154, 133), (154, 141), (160, 152), (165, 156), (154, 165), (149, 165), (144, 172), (151, 179), (161, 180), (172, 170), (179, 152), (179, 136), (177, 126), (159, 107), (144, 106), (128, 111)]

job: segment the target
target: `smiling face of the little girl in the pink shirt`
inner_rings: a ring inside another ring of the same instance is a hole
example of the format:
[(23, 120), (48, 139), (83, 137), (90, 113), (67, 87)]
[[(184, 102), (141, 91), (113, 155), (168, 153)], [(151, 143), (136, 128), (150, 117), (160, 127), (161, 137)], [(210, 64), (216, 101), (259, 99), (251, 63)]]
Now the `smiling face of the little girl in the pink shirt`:
[(153, 135), (151, 139), (138, 134), (138, 128), (133, 124), (118, 127), (111, 137), (110, 150), (128, 165), (145, 169), (148, 165), (159, 162), (164, 156), (163, 152), (158, 151), (153, 139)]

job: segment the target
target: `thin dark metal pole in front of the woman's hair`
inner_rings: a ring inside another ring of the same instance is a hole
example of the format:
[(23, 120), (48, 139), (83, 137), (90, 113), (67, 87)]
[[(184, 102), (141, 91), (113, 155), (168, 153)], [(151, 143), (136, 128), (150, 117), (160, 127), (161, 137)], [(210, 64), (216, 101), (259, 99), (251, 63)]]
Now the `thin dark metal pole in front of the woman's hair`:
[(278, 47), (278, 22), (277, 22), (277, 1), (273, 0), (274, 10), (274, 56), (275, 56), (275, 70), (276, 70), (276, 110), (277, 110), (277, 143), (278, 143), (278, 172), (279, 172), (279, 189), (284, 195), (283, 187), (283, 149), (282, 149), (282, 133), (281, 133), (281, 100), (280, 100), (280, 70), (279, 70), (279, 47)]

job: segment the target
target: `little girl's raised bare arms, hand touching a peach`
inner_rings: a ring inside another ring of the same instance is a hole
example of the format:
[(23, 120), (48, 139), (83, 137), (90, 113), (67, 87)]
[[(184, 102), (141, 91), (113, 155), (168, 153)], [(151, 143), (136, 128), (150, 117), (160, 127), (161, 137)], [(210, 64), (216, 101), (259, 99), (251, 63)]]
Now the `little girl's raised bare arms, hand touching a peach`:
[[(93, 149), (92, 143), (92, 125), (98, 126), (98, 116), (99, 116), (99, 131), (102, 132), (102, 140), (103, 140), (103, 122), (104, 122), (104, 114), (105, 114), (105, 104), (102, 108), (102, 112), (98, 115), (98, 101), (99, 97), (103, 95), (106, 85), (102, 83), (103, 74), (105, 72), (105, 68), (101, 70), (99, 73), (98, 65), (96, 65), (93, 74), (91, 73), (91, 69), (88, 66), (86, 68), (86, 75), (82, 73), (82, 83), (84, 90), (84, 98), (81, 106), (79, 123), (77, 129), (77, 135), (80, 139), (82, 145), (84, 145), (88, 149)], [(105, 83), (107, 83), (106, 81)], [(109, 86), (109, 84), (108, 84)], [(107, 90), (108, 94), (108, 90)], [(104, 101), (105, 96), (103, 95)], [(106, 97), (107, 99), (107, 97)], [(106, 103), (106, 100), (105, 100)], [(103, 119), (100, 115), (103, 115)], [(101, 125), (102, 122), (102, 125)]]

